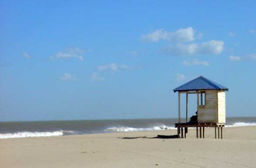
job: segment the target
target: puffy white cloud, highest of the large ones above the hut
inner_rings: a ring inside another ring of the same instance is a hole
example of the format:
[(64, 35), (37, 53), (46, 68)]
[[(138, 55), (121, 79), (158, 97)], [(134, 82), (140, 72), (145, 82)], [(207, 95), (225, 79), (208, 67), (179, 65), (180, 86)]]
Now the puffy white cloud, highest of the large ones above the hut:
[(188, 42), (194, 40), (194, 29), (192, 27), (168, 32), (163, 29), (156, 29), (154, 32), (142, 35), (141, 40), (146, 42), (159, 42), (160, 40), (169, 40), (174, 42)]

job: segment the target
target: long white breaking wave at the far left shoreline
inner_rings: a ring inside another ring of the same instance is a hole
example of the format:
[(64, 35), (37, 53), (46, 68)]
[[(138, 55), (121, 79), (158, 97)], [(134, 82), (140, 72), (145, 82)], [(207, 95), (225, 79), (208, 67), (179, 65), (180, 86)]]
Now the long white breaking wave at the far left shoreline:
[(3, 138), (25, 138), (25, 137), (50, 137), (63, 135), (63, 131), (53, 131), (53, 132), (16, 132), (16, 133), (6, 133), (0, 134), (0, 139)]

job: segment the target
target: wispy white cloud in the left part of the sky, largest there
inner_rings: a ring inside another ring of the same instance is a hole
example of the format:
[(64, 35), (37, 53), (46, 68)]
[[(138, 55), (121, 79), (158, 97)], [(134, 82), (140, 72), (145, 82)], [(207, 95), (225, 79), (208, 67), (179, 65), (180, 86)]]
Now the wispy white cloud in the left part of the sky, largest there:
[(79, 60), (83, 60), (83, 54), (85, 53), (85, 50), (80, 49), (80, 48), (71, 48), (71, 49), (67, 49), (64, 52), (58, 52), (57, 54), (55, 54), (54, 56), (51, 56), (51, 60), (54, 59), (62, 59), (62, 58), (76, 58)]

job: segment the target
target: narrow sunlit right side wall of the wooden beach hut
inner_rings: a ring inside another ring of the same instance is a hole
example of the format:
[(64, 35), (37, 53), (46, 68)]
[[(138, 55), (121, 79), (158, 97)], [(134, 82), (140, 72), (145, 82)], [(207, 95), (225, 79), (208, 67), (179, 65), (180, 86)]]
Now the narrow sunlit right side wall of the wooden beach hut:
[(218, 91), (218, 123), (226, 122), (225, 91)]

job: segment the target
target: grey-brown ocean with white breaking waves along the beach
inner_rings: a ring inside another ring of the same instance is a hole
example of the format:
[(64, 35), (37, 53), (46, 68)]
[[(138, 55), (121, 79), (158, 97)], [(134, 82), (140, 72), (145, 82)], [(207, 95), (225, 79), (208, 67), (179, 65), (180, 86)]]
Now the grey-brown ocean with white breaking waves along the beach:
[[(175, 129), (176, 122), (176, 118), (0, 122), (0, 138), (168, 130)], [(226, 127), (253, 125), (256, 125), (256, 117), (226, 118)]]

